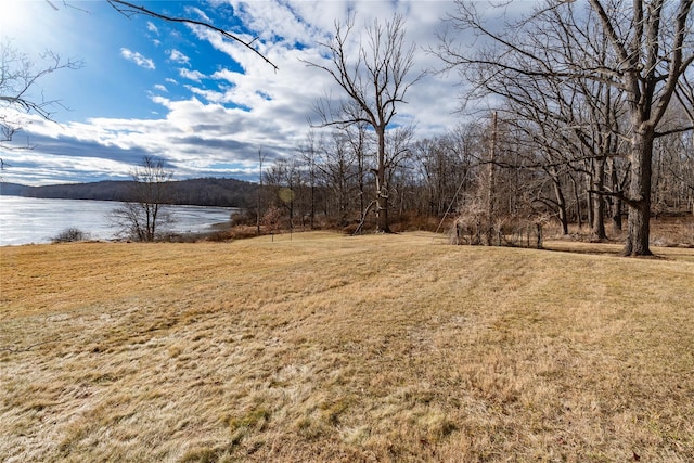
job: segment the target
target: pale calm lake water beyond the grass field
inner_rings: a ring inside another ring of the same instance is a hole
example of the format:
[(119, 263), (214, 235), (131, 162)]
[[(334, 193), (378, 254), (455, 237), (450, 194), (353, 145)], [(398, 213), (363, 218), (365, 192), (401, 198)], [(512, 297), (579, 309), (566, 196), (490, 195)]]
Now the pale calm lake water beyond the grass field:
[[(43, 200), (37, 197), (0, 196), (0, 246), (50, 243), (69, 228), (88, 233), (92, 240), (111, 240), (117, 230), (107, 215), (120, 203), (88, 200)], [(167, 206), (175, 233), (209, 231), (215, 223), (227, 222), (231, 207)]]

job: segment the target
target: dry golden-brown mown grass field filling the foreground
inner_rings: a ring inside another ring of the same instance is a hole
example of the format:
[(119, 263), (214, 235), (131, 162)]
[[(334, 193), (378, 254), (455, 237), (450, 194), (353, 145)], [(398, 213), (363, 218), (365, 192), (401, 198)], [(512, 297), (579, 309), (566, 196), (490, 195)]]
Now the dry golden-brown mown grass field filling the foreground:
[(694, 461), (694, 249), (547, 246), (0, 248), (0, 461)]

